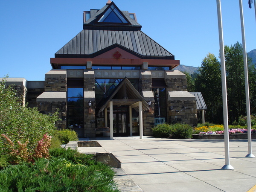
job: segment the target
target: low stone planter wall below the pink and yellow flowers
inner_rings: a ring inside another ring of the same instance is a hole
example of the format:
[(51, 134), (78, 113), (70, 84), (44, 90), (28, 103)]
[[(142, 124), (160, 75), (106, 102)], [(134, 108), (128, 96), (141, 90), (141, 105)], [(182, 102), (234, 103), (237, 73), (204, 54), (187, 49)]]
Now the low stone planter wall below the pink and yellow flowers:
[[(241, 140), (247, 139), (248, 134), (229, 134), (230, 140)], [(193, 134), (192, 139), (195, 140), (224, 140), (224, 134), (207, 134), (207, 135), (199, 135)], [(252, 139), (256, 139), (256, 133), (252, 133)]]

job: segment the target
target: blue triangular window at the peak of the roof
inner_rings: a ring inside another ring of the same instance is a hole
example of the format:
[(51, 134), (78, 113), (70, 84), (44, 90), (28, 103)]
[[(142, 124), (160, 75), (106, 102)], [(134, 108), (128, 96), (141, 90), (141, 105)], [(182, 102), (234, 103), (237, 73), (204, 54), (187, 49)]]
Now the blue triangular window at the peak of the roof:
[(107, 9), (104, 15), (99, 19), (101, 23), (128, 23), (122, 13), (113, 4)]

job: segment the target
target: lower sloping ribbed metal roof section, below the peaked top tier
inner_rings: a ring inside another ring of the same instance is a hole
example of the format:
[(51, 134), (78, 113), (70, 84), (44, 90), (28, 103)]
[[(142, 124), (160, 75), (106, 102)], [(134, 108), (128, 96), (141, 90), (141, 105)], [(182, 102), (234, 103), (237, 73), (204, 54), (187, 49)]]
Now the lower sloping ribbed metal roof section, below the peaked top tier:
[(55, 53), (56, 58), (93, 58), (107, 48), (119, 46), (140, 58), (174, 59), (169, 51), (142, 31), (82, 30)]

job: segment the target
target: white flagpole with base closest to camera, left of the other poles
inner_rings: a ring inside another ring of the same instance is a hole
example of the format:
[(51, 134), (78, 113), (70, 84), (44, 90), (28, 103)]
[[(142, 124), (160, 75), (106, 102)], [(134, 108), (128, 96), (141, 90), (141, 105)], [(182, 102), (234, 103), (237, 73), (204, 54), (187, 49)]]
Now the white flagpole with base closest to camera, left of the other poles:
[(228, 136), (228, 116), (227, 116), (227, 84), (226, 84), (224, 42), (223, 42), (222, 18), (221, 18), (221, 0), (216, 0), (216, 1), (217, 1), (218, 31), (219, 31), (220, 56), (221, 56), (221, 84), (222, 84), (224, 145), (225, 145), (225, 165), (221, 169), (234, 169), (233, 166), (230, 165), (230, 157), (229, 157), (229, 136)]

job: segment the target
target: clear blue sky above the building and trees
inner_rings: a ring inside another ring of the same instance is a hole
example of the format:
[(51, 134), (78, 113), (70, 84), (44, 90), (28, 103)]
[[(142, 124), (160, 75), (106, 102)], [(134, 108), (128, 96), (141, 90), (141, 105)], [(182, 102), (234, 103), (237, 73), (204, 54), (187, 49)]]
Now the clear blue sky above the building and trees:
[[(83, 11), (108, 0), (0, 0), (0, 77), (44, 81), (50, 58), (83, 29)], [(199, 67), (207, 53), (218, 57), (216, 0), (113, 0), (136, 13), (142, 31), (180, 60)], [(247, 52), (256, 49), (256, 21), (243, 0)], [(221, 0), (224, 44), (242, 43), (239, 0)]]

